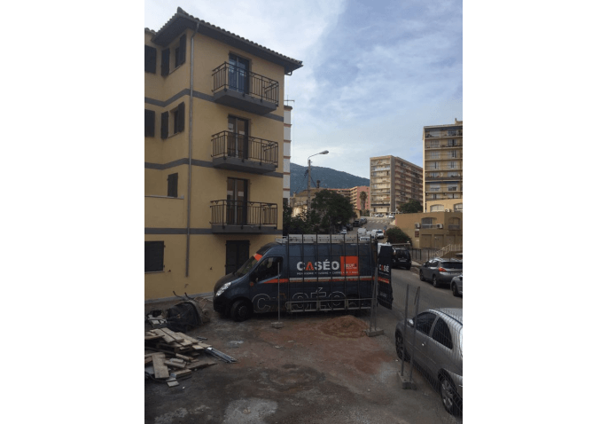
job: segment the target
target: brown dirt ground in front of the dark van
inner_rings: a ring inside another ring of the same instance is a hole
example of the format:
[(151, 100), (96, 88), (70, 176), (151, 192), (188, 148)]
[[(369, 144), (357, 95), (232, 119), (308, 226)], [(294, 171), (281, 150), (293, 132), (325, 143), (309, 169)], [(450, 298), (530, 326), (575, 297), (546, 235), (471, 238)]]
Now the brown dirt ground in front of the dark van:
[(386, 335), (368, 337), (363, 332), (369, 328), (367, 315), (287, 316), (281, 319), (285, 326), (276, 329), (271, 326), (275, 314), (236, 323), (213, 312), (211, 322), (188, 334), (207, 337), (238, 363), (218, 360), (175, 388), (146, 380), (145, 422), (462, 422), (443, 409), (437, 391), (416, 371), (417, 389), (401, 389), (391, 314), (380, 308), (378, 323), (387, 326)]

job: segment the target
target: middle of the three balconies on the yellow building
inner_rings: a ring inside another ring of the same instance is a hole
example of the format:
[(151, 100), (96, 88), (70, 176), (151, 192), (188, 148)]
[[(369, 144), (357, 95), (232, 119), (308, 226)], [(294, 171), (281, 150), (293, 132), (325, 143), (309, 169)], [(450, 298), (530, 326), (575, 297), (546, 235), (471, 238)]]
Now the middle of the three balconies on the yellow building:
[(230, 131), (211, 136), (214, 168), (267, 174), (278, 166), (278, 143)]

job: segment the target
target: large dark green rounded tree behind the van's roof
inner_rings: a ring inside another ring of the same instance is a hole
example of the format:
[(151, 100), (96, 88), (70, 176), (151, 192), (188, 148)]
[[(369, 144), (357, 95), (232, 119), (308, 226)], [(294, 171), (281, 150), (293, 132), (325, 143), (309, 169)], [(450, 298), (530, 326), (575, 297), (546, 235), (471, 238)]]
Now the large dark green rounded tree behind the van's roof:
[(332, 228), (346, 225), (356, 216), (350, 200), (331, 190), (316, 192), (310, 207), (309, 223), (319, 232), (331, 232)]

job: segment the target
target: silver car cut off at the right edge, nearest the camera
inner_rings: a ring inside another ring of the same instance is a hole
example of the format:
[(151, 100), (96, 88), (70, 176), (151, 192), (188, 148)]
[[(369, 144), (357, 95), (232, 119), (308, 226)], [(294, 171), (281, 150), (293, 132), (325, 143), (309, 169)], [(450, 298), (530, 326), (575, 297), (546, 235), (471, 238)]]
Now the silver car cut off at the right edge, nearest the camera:
[(440, 383), (446, 411), (456, 415), (463, 408), (463, 310), (425, 310), (407, 326), (399, 321), (394, 330), (397, 356), (412, 357), (425, 373)]

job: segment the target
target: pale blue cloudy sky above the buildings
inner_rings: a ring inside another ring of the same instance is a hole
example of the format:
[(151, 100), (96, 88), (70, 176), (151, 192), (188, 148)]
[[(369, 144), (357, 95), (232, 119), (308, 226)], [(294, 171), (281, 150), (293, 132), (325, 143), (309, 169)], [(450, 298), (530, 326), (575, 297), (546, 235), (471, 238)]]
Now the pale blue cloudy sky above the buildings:
[[(370, 157), (422, 166), (422, 129), (463, 119), (463, 4), (435, 0), (145, 0), (144, 27), (185, 12), (304, 66), (285, 76), (292, 163), (370, 177)], [(296, 176), (292, 176), (296, 177)]]

